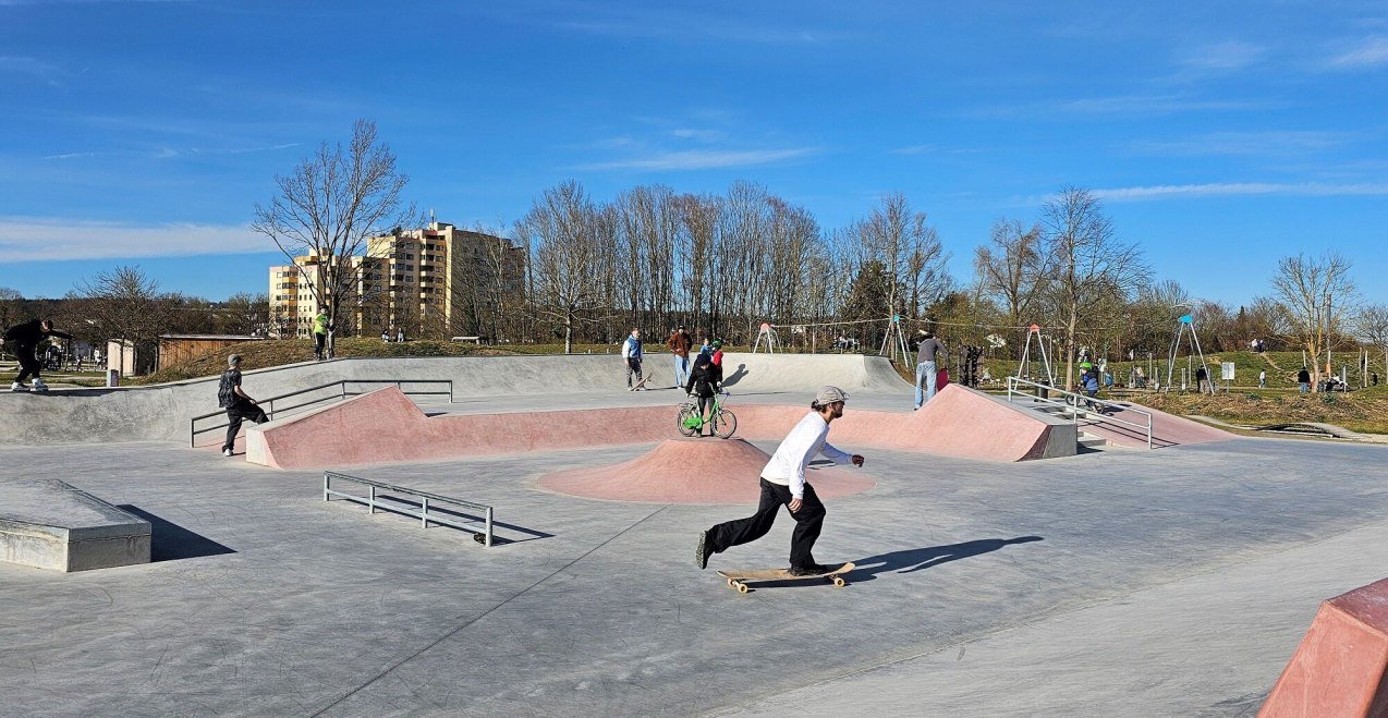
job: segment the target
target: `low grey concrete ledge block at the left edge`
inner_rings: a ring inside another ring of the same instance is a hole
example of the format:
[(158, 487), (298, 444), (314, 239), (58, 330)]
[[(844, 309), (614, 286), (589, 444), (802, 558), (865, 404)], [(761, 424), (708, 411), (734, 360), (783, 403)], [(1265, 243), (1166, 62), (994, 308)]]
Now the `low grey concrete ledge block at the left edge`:
[(0, 483), (0, 561), (50, 571), (150, 562), (150, 522), (57, 479)]

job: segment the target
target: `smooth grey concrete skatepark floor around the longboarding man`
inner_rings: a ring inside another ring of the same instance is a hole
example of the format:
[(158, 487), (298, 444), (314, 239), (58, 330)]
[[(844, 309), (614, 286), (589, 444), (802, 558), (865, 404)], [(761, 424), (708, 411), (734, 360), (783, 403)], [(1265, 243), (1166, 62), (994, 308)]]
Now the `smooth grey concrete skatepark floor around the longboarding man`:
[(1388, 558), (1384, 447), (869, 450), (877, 487), (816, 546), (851, 585), (744, 596), (713, 569), (784, 565), (787, 517), (701, 572), (697, 532), (748, 506), (536, 487), (647, 449), (353, 471), (496, 506), (514, 543), (484, 549), (172, 442), (0, 447), (0, 483), (155, 524), (147, 565), (0, 564), (0, 712), (1252, 715), (1319, 601)]

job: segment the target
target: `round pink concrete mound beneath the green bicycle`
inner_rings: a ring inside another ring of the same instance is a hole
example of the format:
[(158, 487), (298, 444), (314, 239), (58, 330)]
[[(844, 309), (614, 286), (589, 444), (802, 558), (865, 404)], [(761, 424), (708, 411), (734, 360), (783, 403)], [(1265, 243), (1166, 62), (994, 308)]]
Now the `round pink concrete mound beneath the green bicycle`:
[[(668, 439), (630, 461), (558, 471), (540, 479), (551, 492), (657, 504), (750, 504), (761, 496), (769, 454), (741, 439)], [(858, 469), (811, 467), (805, 478), (820, 499), (877, 485)]]

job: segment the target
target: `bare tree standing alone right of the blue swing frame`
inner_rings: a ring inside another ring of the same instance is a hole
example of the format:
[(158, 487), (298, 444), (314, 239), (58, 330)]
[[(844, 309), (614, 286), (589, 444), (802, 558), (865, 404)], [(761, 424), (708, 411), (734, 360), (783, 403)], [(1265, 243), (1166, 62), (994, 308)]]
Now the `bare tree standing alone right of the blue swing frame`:
[[(1320, 354), (1330, 346), (1335, 324), (1353, 306), (1355, 282), (1348, 258), (1327, 251), (1320, 257), (1283, 257), (1273, 290), (1287, 318), (1288, 336), (1310, 356), (1312, 385), (1320, 386)], [(1330, 374), (1330, 360), (1326, 360)]]

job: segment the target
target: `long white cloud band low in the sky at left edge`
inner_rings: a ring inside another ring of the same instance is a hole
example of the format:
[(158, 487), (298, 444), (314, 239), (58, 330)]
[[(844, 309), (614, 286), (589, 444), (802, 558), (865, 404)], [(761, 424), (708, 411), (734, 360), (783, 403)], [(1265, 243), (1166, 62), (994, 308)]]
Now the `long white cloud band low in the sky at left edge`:
[(244, 225), (140, 226), (57, 217), (0, 217), (0, 262), (261, 251), (275, 251), (275, 244)]

